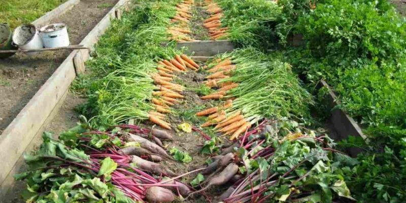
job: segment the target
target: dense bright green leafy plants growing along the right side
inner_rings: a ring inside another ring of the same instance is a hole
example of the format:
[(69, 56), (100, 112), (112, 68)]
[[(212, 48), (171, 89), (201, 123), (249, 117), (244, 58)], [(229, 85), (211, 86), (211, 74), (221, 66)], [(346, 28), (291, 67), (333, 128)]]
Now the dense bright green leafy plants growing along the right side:
[[(344, 109), (364, 127), (370, 142), (346, 179), (361, 202), (403, 202), (406, 165), (406, 23), (386, 0), (282, 0), (280, 36), (300, 33), (305, 46), (285, 50), (294, 70), (314, 87), (324, 79)], [(286, 39), (282, 38), (282, 39)], [(281, 42), (286, 42), (282, 40)], [(285, 43), (286, 44), (286, 43)]]

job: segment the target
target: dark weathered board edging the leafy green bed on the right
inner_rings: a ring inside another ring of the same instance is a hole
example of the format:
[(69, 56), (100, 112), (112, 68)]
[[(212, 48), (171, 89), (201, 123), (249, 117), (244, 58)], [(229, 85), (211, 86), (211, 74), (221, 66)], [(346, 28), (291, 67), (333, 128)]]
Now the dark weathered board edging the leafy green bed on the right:
[[(367, 137), (362, 132), (358, 123), (343, 110), (335, 108), (337, 105), (340, 105), (340, 101), (330, 86), (324, 80), (321, 81), (321, 86), (328, 90), (326, 96), (327, 108), (331, 111), (330, 121), (339, 136), (338, 139), (342, 140), (349, 136), (358, 136), (367, 141)], [(352, 157), (356, 157), (360, 152), (362, 152), (362, 150), (359, 148), (354, 147), (349, 149), (349, 154)]]

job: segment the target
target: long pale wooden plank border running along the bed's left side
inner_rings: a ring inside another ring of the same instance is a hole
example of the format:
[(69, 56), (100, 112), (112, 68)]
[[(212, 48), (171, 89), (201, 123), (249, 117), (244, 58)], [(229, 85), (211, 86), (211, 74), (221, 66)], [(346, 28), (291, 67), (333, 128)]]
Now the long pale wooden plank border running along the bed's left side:
[[(110, 26), (112, 19), (116, 18), (116, 10), (121, 9), (130, 0), (120, 0), (106, 16), (88, 33), (80, 44), (93, 47), (100, 35)], [(74, 57), (79, 50), (74, 50), (59, 65), (52, 76), (29, 100), (28, 104), (20, 111), (9, 126), (0, 136), (0, 199), (7, 194), (14, 183), (13, 175), (18, 169), (17, 162), (26, 151), (36, 135), (41, 134), (47, 120), (52, 120), (50, 115), (59, 108), (64, 95), (76, 77)], [(90, 50), (81, 50), (81, 60), (89, 58)]]

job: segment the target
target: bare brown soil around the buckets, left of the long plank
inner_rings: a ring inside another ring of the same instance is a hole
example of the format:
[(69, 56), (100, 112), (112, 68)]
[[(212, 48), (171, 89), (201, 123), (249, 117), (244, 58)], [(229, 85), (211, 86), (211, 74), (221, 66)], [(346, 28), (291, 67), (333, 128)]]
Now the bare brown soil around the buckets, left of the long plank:
[[(118, 0), (82, 0), (51, 23), (65, 23), (71, 44), (79, 44)], [(70, 51), (17, 53), (0, 60), (0, 134), (53, 74)]]

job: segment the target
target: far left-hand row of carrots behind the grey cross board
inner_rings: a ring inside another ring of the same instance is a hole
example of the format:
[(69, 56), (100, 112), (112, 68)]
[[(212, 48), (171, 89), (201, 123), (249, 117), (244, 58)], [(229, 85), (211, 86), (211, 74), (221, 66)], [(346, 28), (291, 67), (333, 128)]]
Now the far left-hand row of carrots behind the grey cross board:
[(191, 7), (194, 5), (193, 0), (184, 0), (183, 3), (176, 6), (176, 15), (171, 19), (172, 23), (177, 25), (168, 27), (167, 32), (172, 35), (170, 40), (176, 40), (178, 42), (196, 41), (189, 36), (191, 33), (188, 28), (189, 19), (192, 18)]

